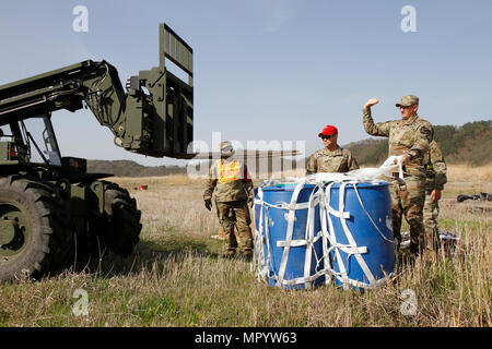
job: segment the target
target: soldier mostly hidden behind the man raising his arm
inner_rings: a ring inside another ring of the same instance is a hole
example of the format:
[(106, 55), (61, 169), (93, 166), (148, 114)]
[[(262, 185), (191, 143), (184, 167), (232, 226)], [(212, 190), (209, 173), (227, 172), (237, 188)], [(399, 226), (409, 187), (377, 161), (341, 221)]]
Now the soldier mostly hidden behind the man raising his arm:
[(425, 238), (427, 239), (427, 248), (437, 250), (441, 244), (437, 230), (438, 201), (441, 191), (444, 190), (444, 184), (447, 182), (447, 168), (443, 152), (435, 141), (430, 144), (424, 164), (426, 164), (425, 204), (423, 208)]

